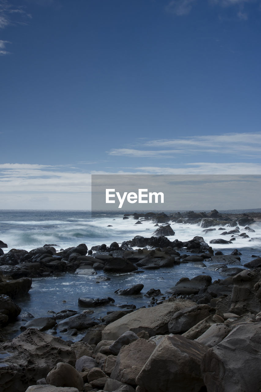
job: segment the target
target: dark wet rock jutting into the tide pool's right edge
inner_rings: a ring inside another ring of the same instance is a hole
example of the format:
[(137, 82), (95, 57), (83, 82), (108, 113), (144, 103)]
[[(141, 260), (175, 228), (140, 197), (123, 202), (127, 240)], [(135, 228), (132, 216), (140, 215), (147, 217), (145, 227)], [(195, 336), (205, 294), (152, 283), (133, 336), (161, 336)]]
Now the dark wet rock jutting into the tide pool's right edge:
[(168, 293), (176, 295), (198, 294), (200, 290), (205, 290), (211, 284), (212, 278), (208, 275), (198, 275), (191, 280), (181, 278), (174, 287), (167, 290)]

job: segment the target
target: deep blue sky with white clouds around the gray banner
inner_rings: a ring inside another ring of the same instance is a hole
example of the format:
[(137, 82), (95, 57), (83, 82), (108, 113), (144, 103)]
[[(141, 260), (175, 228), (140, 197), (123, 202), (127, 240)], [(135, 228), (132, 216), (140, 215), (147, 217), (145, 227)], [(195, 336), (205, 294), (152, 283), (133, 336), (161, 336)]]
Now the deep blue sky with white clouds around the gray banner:
[(91, 174), (261, 174), (260, 43), (260, 0), (0, 0), (1, 208), (89, 209)]

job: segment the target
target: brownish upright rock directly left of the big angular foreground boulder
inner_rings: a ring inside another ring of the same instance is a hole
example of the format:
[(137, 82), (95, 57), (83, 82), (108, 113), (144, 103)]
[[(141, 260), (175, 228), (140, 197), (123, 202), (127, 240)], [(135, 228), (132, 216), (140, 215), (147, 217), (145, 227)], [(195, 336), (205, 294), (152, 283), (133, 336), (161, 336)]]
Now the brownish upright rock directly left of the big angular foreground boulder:
[(118, 354), (111, 378), (122, 383), (136, 385), (136, 377), (155, 347), (154, 342), (140, 338), (123, 346)]

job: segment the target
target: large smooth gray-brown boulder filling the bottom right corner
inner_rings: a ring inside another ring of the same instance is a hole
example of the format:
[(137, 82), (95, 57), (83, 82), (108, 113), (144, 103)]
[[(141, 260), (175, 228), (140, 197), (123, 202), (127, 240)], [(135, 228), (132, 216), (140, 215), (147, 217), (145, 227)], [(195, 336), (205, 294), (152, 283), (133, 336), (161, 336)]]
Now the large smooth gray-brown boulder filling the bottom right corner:
[(260, 323), (243, 323), (204, 354), (201, 370), (207, 390), (260, 390), (260, 333)]

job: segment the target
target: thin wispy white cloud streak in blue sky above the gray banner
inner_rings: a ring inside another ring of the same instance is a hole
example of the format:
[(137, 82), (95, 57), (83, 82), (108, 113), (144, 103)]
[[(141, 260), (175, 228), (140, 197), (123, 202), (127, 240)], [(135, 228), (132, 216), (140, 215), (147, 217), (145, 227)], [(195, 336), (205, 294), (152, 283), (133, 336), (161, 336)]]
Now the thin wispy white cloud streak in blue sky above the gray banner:
[(176, 139), (149, 140), (140, 143), (140, 148), (112, 149), (109, 155), (144, 158), (169, 158), (176, 154), (240, 154), (240, 156), (259, 157), (261, 133), (228, 133), (221, 135), (191, 136)]

